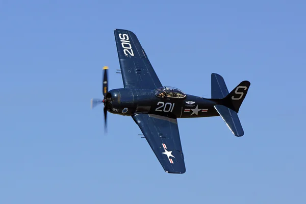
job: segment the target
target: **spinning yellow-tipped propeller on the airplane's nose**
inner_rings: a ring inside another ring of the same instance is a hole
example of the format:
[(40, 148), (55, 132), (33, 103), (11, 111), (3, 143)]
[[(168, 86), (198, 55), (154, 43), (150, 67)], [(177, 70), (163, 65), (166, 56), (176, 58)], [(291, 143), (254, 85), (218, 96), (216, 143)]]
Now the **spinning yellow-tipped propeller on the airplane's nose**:
[(108, 66), (103, 67), (104, 70), (104, 76), (103, 76), (103, 84), (102, 84), (102, 92), (104, 95), (104, 99), (98, 99), (98, 98), (92, 98), (91, 99), (91, 109), (95, 108), (97, 105), (104, 103), (104, 127), (105, 132), (107, 131), (107, 103), (108, 99), (106, 98), (106, 95), (108, 93), (108, 78), (107, 78), (107, 70)]

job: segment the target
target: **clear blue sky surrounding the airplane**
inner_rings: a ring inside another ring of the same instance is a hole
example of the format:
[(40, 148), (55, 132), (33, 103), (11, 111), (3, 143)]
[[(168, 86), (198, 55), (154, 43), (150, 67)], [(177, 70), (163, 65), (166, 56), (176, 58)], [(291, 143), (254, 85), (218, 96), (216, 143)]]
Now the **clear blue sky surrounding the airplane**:
[[(304, 1), (0, 1), (0, 203), (306, 203)], [(133, 31), (163, 85), (211, 95), (212, 72), (251, 86), (235, 137), (179, 119), (186, 173), (167, 174), (123, 87), (114, 29)]]

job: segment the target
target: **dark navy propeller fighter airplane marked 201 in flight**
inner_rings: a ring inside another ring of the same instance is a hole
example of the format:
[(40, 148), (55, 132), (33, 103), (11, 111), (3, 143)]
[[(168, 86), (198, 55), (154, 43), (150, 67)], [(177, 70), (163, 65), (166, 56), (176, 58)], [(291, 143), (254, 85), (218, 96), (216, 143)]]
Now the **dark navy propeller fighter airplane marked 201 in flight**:
[(115, 40), (124, 88), (108, 90), (108, 67), (103, 67), (104, 99), (91, 99), (91, 108), (104, 104), (107, 112), (131, 116), (167, 173), (186, 172), (177, 118), (221, 116), (232, 133), (244, 135), (238, 111), (250, 86), (241, 82), (230, 93), (224, 79), (211, 74), (211, 98), (189, 95), (163, 86), (136, 35), (115, 29)]

